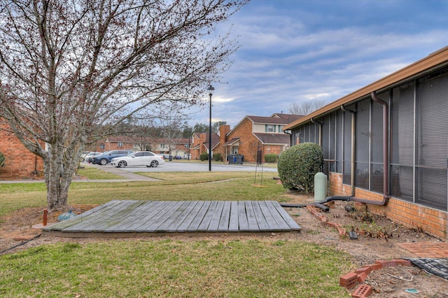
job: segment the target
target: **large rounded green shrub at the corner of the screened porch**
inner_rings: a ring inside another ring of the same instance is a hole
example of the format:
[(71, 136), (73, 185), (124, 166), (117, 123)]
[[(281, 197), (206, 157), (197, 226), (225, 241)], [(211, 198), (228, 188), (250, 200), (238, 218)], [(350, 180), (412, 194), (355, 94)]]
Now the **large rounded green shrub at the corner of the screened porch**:
[(316, 143), (302, 143), (285, 150), (277, 169), (283, 187), (309, 193), (314, 190), (314, 175), (323, 168), (323, 152)]

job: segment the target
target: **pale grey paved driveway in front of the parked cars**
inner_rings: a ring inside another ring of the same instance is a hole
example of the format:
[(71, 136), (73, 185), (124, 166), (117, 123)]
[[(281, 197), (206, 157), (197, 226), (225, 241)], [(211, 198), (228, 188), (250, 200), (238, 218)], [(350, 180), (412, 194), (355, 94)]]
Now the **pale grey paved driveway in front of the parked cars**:
[[(120, 171), (127, 172), (202, 172), (209, 171), (208, 163), (192, 163), (192, 162), (165, 162), (157, 168), (148, 168), (146, 166), (132, 166), (125, 168), (115, 168), (110, 164), (105, 166), (100, 166), (98, 164), (89, 164), (89, 166), (94, 166), (98, 169), (118, 169)], [(242, 164), (211, 164), (211, 171), (265, 171), (265, 172), (276, 172), (277, 169), (267, 168), (262, 166), (247, 166)]]

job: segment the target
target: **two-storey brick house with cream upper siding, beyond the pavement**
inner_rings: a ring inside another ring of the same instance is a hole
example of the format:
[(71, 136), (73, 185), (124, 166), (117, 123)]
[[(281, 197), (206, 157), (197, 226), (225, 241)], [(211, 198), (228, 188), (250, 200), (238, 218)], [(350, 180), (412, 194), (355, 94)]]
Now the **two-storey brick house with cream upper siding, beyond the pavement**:
[(222, 154), (243, 155), (244, 162), (265, 162), (265, 155), (279, 155), (289, 148), (290, 136), (282, 129), (300, 118), (302, 115), (283, 113), (270, 117), (245, 116), (232, 130), (221, 134)]

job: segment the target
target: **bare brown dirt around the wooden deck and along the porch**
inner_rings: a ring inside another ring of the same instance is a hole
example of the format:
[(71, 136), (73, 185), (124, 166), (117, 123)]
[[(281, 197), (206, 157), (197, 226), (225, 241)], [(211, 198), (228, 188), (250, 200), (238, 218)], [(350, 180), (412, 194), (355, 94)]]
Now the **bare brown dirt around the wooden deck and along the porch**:
[[(313, 199), (308, 196), (290, 194), (291, 204), (306, 204)], [(351, 240), (349, 236), (339, 237), (335, 227), (323, 224), (316, 216), (311, 215), (306, 208), (286, 208), (291, 217), (302, 227), (300, 234), (272, 234), (272, 238), (307, 241), (311, 243), (330, 246), (337, 250), (343, 250), (353, 256), (355, 269), (366, 264), (372, 264), (377, 260), (392, 260), (405, 257), (418, 257), (396, 245), (403, 242), (440, 242), (428, 236), (418, 229), (407, 229), (397, 225), (391, 220), (374, 216), (367, 211), (346, 211), (346, 206), (353, 206), (352, 202), (335, 202), (334, 208), (325, 213), (319, 209), (319, 213), (330, 222), (335, 222), (341, 227), (356, 232), (357, 239)], [(94, 205), (73, 205), (72, 210), (76, 214), (83, 213), (93, 208)], [(348, 208), (348, 207), (347, 207)], [(57, 216), (66, 211), (50, 213), (48, 222), (56, 222)], [(9, 213), (1, 218), (0, 222), (0, 251), (18, 246), (18, 244), (33, 239), (24, 245), (7, 250), (4, 253), (13, 253), (33, 246), (57, 242), (88, 243), (94, 241), (109, 241), (108, 239), (69, 239), (48, 236), (38, 236), (40, 230), (32, 228), (33, 225), (42, 223), (43, 208), (26, 208)], [(228, 236), (228, 239), (239, 236)], [(213, 237), (208, 237), (213, 238)], [(222, 239), (222, 236), (219, 237)], [(182, 241), (194, 241), (195, 238), (176, 236)], [(349, 273), (349, 272), (347, 272)], [(364, 282), (372, 286), (370, 297), (448, 297), (448, 281), (438, 276), (433, 276), (418, 267), (388, 267), (372, 271)], [(356, 288), (349, 290), (353, 292)], [(416, 290), (418, 293), (409, 293), (406, 290)]]

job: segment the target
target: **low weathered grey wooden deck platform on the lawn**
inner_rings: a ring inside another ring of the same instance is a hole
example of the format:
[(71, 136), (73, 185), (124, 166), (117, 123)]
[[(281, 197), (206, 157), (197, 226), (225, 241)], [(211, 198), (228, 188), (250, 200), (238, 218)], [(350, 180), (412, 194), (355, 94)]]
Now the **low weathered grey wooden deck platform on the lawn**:
[(276, 201), (109, 201), (42, 228), (63, 237), (300, 232)]

